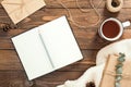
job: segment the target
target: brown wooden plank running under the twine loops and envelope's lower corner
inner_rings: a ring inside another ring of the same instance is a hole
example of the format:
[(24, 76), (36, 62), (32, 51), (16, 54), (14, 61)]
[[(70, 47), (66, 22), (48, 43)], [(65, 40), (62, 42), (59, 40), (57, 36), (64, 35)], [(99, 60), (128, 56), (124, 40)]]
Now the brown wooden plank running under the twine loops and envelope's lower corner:
[[(95, 11), (93, 9), (85, 9), (88, 11), (88, 13), (82, 13), (80, 10), (78, 9), (70, 9), (72, 16), (74, 18), (75, 22), (79, 22), (80, 25), (85, 25), (85, 26), (90, 26), (93, 23), (96, 23), (98, 17), (95, 13)], [(99, 13), (102, 14), (102, 21), (104, 21), (107, 17), (117, 17), (120, 21), (126, 21), (131, 18), (130, 15), (130, 9), (122, 9), (119, 14), (118, 13), (109, 13), (107, 10), (105, 9), (98, 9)], [(3, 11), (3, 9), (0, 9), (0, 22), (8, 22), (13, 24), (9, 16), (7, 15), (7, 13)], [(20, 22), (17, 25), (21, 28), (31, 28), (31, 27), (35, 27), (38, 26), (40, 24), (44, 24), (46, 22), (52, 21), (56, 17), (59, 17), (61, 15), (68, 15), (67, 10), (64, 9), (46, 9), (46, 10), (39, 10), (37, 12), (35, 12), (34, 14), (32, 14), (31, 16), (26, 17), (25, 20), (23, 20), (22, 22)], [(127, 15), (124, 17), (124, 15)], [(69, 15), (68, 15), (69, 16)], [(90, 17), (87, 17), (90, 16)], [(69, 18), (69, 17), (68, 17)], [(99, 23), (102, 23), (102, 21)], [(74, 27), (73, 24), (71, 24), (72, 27)], [(98, 26), (95, 26), (98, 27)], [(88, 27), (88, 28), (93, 28), (93, 27)]]

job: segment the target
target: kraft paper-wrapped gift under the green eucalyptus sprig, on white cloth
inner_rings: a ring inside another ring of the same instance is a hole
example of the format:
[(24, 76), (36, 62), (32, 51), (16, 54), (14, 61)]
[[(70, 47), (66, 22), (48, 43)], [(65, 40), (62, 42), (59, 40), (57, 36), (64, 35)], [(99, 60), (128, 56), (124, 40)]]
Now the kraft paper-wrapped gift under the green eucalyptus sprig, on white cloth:
[[(103, 72), (103, 78), (99, 87), (115, 87), (118, 58), (119, 54), (109, 55)], [(120, 80), (120, 87), (131, 87), (131, 59), (126, 58), (126, 61), (122, 64), (122, 78)]]

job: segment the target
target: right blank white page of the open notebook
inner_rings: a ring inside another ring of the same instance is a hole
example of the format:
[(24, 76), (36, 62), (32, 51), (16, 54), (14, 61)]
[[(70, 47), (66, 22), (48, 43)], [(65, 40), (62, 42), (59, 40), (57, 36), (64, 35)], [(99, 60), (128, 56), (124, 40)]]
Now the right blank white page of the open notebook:
[(40, 26), (39, 32), (56, 69), (81, 60), (82, 53), (66, 16)]

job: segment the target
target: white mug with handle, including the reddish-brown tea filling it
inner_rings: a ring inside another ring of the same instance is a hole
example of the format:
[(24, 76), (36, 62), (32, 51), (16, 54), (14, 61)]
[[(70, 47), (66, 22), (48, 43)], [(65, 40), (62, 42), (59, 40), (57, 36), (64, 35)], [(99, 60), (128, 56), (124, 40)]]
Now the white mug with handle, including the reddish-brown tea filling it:
[(102, 38), (114, 41), (119, 39), (123, 34), (123, 28), (130, 25), (129, 21), (121, 23), (119, 20), (110, 17), (102, 23), (98, 34)]

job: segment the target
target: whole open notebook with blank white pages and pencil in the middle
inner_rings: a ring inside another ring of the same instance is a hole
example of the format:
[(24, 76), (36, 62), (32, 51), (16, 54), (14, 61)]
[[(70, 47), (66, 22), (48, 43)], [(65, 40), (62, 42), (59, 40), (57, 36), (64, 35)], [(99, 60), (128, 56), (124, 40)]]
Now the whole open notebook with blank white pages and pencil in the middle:
[(11, 39), (29, 80), (83, 58), (66, 16)]

